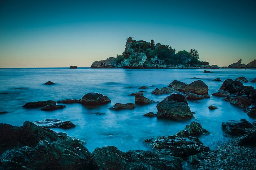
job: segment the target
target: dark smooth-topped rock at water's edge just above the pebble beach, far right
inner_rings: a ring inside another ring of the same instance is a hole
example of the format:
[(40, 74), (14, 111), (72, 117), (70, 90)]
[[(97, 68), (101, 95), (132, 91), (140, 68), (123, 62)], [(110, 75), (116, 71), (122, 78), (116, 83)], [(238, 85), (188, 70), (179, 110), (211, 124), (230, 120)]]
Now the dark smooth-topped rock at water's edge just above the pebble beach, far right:
[(229, 120), (222, 122), (221, 125), (224, 132), (232, 136), (243, 135), (247, 133), (246, 129), (254, 128), (253, 125), (245, 119)]

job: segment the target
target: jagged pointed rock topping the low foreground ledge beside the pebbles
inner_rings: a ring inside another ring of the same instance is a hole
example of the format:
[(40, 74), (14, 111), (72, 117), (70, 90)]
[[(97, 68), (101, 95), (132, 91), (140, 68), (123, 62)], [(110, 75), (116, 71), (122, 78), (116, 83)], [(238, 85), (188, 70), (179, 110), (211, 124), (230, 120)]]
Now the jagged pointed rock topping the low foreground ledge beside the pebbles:
[(200, 123), (197, 123), (195, 121), (191, 122), (190, 125), (186, 125), (185, 129), (188, 131), (190, 136), (198, 136), (201, 134), (207, 135), (210, 134), (205, 128), (202, 127)]

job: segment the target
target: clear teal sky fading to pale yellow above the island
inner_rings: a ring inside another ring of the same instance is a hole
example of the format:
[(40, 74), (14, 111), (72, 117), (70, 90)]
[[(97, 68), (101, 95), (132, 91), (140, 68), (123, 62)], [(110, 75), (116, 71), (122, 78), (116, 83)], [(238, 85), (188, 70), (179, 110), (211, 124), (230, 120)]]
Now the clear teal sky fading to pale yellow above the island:
[(126, 39), (196, 49), (210, 65), (256, 58), (256, 1), (0, 0), (0, 68), (90, 67)]

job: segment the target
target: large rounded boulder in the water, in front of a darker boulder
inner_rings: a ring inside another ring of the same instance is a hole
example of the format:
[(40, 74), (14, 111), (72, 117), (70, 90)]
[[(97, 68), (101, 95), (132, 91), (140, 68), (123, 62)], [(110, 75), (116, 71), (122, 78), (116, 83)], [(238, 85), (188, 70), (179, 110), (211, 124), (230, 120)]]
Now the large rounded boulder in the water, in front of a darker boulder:
[(194, 117), (189, 106), (184, 102), (162, 101), (157, 104), (156, 108), (158, 118), (179, 120)]

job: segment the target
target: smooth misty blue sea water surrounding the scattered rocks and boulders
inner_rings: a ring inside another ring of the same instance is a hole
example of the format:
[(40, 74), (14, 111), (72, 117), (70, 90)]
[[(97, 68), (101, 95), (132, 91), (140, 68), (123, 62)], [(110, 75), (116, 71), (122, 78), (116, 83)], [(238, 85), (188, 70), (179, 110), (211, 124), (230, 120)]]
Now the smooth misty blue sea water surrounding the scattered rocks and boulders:
[[(221, 123), (226, 120), (249, 118), (243, 109), (231, 105), (222, 98), (211, 94), (218, 91), (222, 82), (227, 78), (235, 79), (245, 76), (249, 81), (256, 77), (256, 70), (216, 69), (214, 73), (203, 73), (203, 69), (90, 69), (90, 68), (23, 68), (0, 69), (0, 111), (7, 111), (0, 115), (0, 123), (21, 126), (24, 121), (39, 121), (47, 118), (69, 120), (76, 124), (75, 128), (59, 129), (69, 136), (86, 142), (89, 151), (96, 147), (114, 145), (119, 150), (131, 149), (148, 150), (143, 140), (163, 135), (173, 135), (185, 128), (192, 121), (201, 123), (211, 134), (202, 135), (200, 140), (210, 148), (225, 142)], [(154, 95), (155, 88), (167, 87), (174, 80), (191, 83), (200, 78), (209, 87), (211, 98), (198, 101), (188, 101), (195, 118), (186, 121), (172, 121), (166, 119), (144, 117), (150, 111), (156, 113), (156, 104), (136, 106), (133, 110), (112, 111), (108, 108), (115, 103), (134, 103), (131, 93), (138, 92), (140, 86), (148, 86), (144, 96), (161, 101), (166, 95)], [(212, 81), (221, 78), (221, 82)], [(55, 85), (44, 85), (52, 81)], [(256, 83), (244, 83), (256, 88)], [(133, 88), (125, 88), (133, 87)], [(80, 99), (89, 92), (102, 93), (111, 99), (111, 103), (86, 107), (81, 104), (66, 104), (66, 108), (55, 111), (41, 111), (40, 108), (23, 108), (27, 102), (41, 100)], [(209, 110), (209, 105), (218, 107)], [(105, 115), (93, 113), (103, 112)]]

